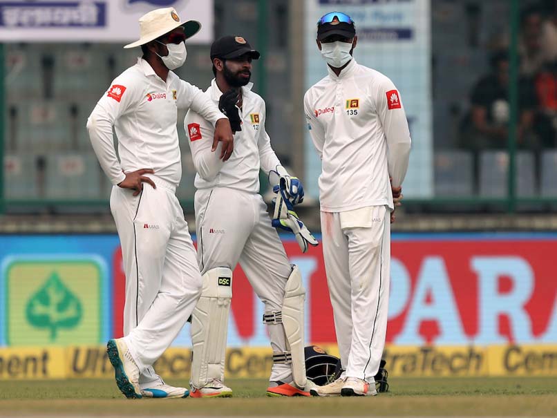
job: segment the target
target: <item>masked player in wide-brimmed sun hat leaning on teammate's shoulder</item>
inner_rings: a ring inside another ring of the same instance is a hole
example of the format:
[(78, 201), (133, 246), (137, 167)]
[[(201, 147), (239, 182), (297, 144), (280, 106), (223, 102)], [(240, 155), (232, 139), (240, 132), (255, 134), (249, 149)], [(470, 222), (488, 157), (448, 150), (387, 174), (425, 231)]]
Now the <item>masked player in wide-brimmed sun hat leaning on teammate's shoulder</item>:
[(216, 124), (213, 148), (222, 142), (224, 160), (234, 146), (227, 117), (171, 71), (184, 64), (185, 40), (199, 28), (197, 21), (180, 21), (173, 8), (144, 15), (140, 40), (124, 47), (141, 46), (143, 56), (116, 77), (87, 121), (93, 149), (114, 184), (111, 211), (126, 273), (125, 336), (108, 341), (108, 357), (118, 388), (129, 398), (189, 394), (165, 384), (152, 367), (184, 326), (202, 285), (175, 195), (182, 176), (177, 109), (191, 107)]

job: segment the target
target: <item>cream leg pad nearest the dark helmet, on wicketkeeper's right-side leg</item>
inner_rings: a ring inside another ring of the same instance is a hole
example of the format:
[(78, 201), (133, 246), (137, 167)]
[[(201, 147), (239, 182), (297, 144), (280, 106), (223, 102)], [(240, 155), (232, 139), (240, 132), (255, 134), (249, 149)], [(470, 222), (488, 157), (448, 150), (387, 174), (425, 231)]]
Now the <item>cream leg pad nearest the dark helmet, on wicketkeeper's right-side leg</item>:
[(292, 377), (294, 383), (303, 388), (306, 383), (305, 356), (303, 352), (303, 307), (305, 301), (305, 289), (303, 288), (302, 276), (296, 265), (292, 266), (292, 273), (288, 277), (285, 287), (285, 295), (282, 310), (282, 322), (286, 341), (292, 355)]

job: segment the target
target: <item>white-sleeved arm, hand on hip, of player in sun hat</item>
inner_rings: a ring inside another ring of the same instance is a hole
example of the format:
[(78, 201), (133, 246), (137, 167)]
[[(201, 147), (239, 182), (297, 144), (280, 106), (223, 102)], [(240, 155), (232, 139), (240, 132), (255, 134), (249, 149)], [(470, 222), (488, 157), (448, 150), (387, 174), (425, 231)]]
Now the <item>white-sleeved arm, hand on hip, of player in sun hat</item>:
[(87, 119), (93, 150), (112, 184), (120, 184), (126, 178), (114, 149), (112, 128), (115, 120), (133, 105), (136, 90), (133, 82), (124, 77), (116, 78)]

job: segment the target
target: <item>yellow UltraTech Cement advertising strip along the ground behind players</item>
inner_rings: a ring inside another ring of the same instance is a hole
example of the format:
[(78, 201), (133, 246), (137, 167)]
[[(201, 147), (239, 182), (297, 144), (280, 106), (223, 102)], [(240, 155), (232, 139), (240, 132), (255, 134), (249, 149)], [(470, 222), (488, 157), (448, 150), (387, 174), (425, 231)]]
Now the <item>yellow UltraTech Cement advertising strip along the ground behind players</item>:
[[(322, 346), (338, 356), (334, 345)], [(389, 345), (384, 351), (390, 377), (557, 377), (557, 345), (487, 347), (412, 347)], [(270, 348), (229, 348), (227, 378), (265, 379), (272, 367)], [(155, 363), (168, 379), (188, 379), (191, 351), (169, 348)], [(0, 348), (0, 380), (112, 378), (103, 345), (47, 348)]]

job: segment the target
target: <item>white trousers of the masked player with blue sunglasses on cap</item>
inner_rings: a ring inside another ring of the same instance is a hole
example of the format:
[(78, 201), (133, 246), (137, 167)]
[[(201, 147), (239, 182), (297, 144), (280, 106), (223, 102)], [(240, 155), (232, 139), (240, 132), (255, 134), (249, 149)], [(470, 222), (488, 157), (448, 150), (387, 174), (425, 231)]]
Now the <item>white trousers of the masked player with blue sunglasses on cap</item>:
[(351, 212), (356, 216), (321, 212), (323, 258), (342, 368), (346, 377), (372, 382), (387, 330), (390, 212), (384, 206)]

